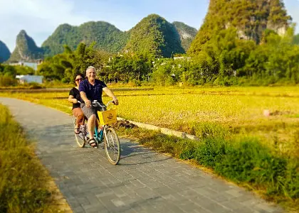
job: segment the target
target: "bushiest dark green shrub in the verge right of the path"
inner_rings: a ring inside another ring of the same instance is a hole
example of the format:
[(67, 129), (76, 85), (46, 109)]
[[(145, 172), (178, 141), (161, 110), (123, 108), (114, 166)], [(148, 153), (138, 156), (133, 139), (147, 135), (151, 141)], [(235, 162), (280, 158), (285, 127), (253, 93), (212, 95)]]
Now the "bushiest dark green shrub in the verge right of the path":
[(230, 146), (227, 155), (217, 163), (216, 172), (238, 182), (261, 184), (285, 175), (286, 160), (274, 157), (256, 138), (243, 138)]

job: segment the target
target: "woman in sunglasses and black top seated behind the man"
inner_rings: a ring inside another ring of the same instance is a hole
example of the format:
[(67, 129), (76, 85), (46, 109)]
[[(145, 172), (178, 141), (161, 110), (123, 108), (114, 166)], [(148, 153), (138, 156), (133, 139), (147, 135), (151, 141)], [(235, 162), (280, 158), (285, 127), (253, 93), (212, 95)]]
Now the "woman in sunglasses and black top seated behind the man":
[(74, 129), (76, 134), (79, 133), (80, 124), (84, 124), (84, 114), (80, 107), (80, 103), (78, 103), (78, 101), (81, 102), (81, 97), (80, 97), (80, 92), (79, 92), (79, 84), (83, 80), (84, 80), (83, 74), (78, 73), (77, 75), (75, 75), (75, 87), (70, 89), (70, 93), (68, 96), (68, 102), (73, 103), (72, 111), (73, 111), (73, 115), (76, 117), (75, 129)]

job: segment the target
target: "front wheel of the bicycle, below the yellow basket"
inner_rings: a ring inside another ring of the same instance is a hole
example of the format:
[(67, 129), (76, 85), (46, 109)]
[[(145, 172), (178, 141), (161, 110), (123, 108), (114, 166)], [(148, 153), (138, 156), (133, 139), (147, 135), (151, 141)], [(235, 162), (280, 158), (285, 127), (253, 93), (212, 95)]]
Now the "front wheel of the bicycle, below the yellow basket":
[(104, 148), (109, 162), (117, 165), (120, 161), (120, 139), (112, 127), (105, 131)]

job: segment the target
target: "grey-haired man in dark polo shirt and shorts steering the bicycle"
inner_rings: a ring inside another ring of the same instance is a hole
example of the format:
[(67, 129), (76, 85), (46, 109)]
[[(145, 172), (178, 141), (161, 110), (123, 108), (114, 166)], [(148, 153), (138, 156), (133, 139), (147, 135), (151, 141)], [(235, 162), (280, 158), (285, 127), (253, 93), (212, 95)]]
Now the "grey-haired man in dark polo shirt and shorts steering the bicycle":
[(88, 133), (90, 136), (88, 143), (90, 144), (90, 146), (94, 147), (96, 146), (95, 139), (93, 138), (93, 135), (95, 134), (95, 113), (97, 110), (101, 109), (95, 110), (95, 108), (91, 106), (91, 103), (96, 100), (101, 105), (103, 105), (103, 91), (107, 94), (107, 96), (113, 99), (113, 102), (115, 102), (116, 105), (118, 105), (118, 100), (115, 97), (115, 94), (107, 87), (104, 82), (95, 79), (95, 67), (90, 66), (87, 68), (86, 77), (88, 77), (88, 79), (80, 82), (79, 91), (81, 99), (84, 102), (81, 103), (81, 108), (86, 118), (88, 118)]

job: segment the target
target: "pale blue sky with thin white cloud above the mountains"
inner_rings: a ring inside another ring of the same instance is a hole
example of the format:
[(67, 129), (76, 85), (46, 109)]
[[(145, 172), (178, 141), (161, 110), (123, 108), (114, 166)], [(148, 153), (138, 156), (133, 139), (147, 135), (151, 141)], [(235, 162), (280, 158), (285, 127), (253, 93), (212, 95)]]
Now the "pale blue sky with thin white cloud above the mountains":
[[(299, 0), (284, 3), (293, 21), (299, 23)], [(209, 0), (0, 0), (0, 40), (12, 52), (22, 29), (40, 46), (61, 23), (78, 26), (107, 21), (128, 31), (150, 13), (199, 29), (208, 6)]]

